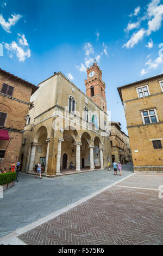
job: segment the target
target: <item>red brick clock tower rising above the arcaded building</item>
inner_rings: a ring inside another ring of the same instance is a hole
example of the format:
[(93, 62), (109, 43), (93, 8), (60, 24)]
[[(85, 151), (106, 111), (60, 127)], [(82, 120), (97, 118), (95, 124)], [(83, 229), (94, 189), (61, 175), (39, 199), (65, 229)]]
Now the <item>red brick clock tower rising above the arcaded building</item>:
[(93, 66), (87, 68), (86, 72), (86, 95), (106, 112), (105, 83), (102, 80), (102, 70), (99, 69), (97, 63), (93, 63)]

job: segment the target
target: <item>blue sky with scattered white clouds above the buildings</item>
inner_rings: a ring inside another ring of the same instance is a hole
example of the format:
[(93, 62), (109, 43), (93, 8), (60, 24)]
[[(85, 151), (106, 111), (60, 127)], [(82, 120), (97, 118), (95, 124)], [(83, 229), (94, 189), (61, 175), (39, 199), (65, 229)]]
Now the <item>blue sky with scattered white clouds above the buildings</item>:
[(96, 58), (127, 133), (117, 87), (163, 73), (162, 20), (163, 0), (0, 0), (0, 67), (36, 86), (60, 71), (85, 93)]

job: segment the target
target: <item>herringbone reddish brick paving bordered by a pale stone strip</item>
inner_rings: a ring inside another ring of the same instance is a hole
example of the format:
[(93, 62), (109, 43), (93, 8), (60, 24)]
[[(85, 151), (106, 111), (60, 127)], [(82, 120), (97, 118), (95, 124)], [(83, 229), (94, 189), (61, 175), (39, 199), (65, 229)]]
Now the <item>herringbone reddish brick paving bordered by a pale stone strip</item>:
[(162, 210), (157, 191), (115, 186), (19, 239), (27, 245), (161, 245)]

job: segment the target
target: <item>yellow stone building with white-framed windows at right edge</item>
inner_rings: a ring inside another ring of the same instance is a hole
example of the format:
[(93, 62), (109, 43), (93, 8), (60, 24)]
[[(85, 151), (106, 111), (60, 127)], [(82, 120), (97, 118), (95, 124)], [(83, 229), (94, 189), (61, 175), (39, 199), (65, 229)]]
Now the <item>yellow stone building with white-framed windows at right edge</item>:
[(118, 87), (134, 171), (163, 171), (163, 74)]

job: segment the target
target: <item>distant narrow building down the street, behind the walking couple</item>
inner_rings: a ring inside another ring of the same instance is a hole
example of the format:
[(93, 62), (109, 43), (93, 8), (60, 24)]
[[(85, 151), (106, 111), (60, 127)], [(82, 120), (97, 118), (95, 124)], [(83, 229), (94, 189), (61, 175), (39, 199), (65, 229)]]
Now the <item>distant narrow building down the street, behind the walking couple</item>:
[(112, 162), (116, 161), (122, 164), (131, 162), (129, 137), (122, 132), (119, 122), (111, 122), (110, 144)]

